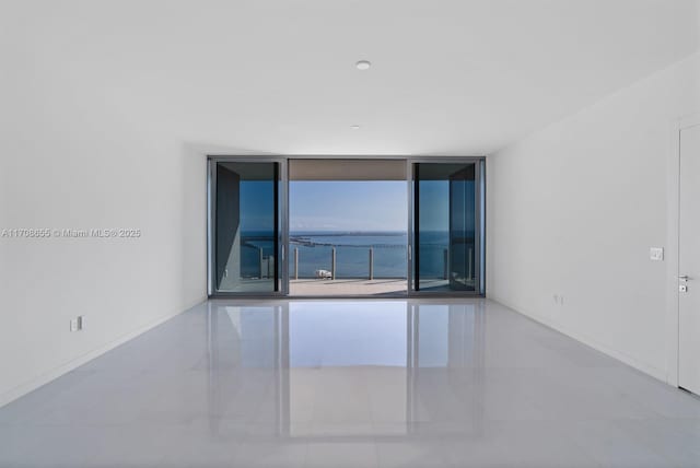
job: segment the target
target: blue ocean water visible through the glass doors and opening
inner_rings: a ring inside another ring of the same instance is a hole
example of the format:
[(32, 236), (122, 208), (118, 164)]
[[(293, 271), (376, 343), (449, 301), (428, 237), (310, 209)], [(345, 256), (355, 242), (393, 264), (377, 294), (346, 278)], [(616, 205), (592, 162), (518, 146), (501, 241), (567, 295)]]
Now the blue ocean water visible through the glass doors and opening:
[[(374, 250), (374, 278), (406, 278), (406, 232), (292, 232), (290, 233), (290, 278), (294, 274), (294, 249), (299, 255), (299, 278), (314, 278), (316, 270), (330, 270), (332, 247), (336, 248), (337, 278), (368, 278), (370, 247)], [(422, 232), (420, 245), (421, 278), (442, 278), (447, 232)], [(269, 234), (244, 233), (242, 272), (255, 277), (259, 271), (259, 250), (273, 255)]]

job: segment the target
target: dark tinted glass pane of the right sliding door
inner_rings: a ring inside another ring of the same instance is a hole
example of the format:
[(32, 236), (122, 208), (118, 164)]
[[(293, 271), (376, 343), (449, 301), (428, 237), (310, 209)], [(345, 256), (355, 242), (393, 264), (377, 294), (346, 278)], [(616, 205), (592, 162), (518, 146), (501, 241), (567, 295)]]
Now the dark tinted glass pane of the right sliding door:
[(476, 291), (476, 164), (416, 164), (418, 291)]

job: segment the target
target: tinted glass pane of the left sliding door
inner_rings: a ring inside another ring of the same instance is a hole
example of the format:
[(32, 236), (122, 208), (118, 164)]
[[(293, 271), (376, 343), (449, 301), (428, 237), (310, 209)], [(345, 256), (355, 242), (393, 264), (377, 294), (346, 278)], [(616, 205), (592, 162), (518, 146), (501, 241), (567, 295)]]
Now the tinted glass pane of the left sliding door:
[(218, 292), (278, 291), (278, 164), (217, 163)]

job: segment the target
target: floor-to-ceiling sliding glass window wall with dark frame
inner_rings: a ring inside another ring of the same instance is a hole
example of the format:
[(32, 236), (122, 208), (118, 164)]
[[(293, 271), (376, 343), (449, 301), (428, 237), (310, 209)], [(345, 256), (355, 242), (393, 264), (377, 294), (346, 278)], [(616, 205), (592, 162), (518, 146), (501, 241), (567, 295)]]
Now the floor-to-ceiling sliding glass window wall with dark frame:
[(485, 292), (483, 159), (209, 164), (211, 296)]

